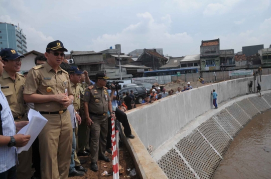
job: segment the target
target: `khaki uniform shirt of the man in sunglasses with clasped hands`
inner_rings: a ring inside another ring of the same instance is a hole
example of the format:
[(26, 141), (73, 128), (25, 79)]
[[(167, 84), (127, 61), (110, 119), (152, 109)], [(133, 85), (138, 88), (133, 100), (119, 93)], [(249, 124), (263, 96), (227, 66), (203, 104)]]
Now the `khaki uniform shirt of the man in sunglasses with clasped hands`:
[[(56, 73), (55, 70), (45, 62), (44, 64), (34, 66), (28, 72), (24, 94), (61, 94), (65, 93), (65, 89), (68, 95), (73, 95), (68, 72), (59, 66)], [(67, 108), (56, 101), (34, 103), (34, 105), (35, 110), (45, 112), (55, 112)]]

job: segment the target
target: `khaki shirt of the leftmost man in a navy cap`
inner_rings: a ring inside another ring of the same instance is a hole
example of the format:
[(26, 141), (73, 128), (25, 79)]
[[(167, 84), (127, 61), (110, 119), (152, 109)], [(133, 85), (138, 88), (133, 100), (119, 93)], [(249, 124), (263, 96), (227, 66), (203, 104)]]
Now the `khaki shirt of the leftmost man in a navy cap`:
[(5, 70), (0, 77), (1, 90), (7, 97), (13, 117), (21, 116), (27, 112), (23, 96), (25, 83), (25, 76), (19, 73), (16, 73), (15, 82)]

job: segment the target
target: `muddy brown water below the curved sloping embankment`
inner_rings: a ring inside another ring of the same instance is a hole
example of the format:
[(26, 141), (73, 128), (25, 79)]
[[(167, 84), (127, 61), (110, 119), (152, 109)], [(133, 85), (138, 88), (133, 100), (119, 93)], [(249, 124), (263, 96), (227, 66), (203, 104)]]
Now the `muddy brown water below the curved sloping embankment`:
[(254, 117), (234, 138), (214, 178), (271, 178), (271, 151), (264, 147), (271, 149), (271, 110)]

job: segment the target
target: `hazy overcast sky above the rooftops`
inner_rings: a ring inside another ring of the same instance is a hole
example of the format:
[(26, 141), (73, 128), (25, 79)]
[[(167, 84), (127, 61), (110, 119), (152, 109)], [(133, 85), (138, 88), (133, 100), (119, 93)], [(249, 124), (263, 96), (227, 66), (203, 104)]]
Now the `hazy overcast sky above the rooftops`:
[(199, 54), (215, 38), (234, 52), (271, 44), (271, 0), (0, 0), (0, 22), (20, 23), (28, 51), (40, 52), (57, 39), (69, 52), (121, 44), (171, 56)]

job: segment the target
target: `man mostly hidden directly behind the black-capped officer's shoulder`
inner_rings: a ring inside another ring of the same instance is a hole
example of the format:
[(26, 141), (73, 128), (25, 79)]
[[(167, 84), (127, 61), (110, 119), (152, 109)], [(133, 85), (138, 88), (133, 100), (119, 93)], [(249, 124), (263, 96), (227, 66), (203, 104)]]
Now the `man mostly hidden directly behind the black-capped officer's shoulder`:
[(80, 108), (79, 113), (82, 119), (81, 124), (78, 126), (78, 154), (84, 155), (84, 153), (88, 152), (89, 150), (89, 134), (90, 130), (89, 127), (86, 125), (86, 117), (85, 117), (85, 111), (84, 111), (84, 93), (85, 88), (90, 85), (90, 79), (88, 76), (88, 72), (84, 71), (84, 73), (81, 75), (81, 81), (78, 83), (80, 88)]

